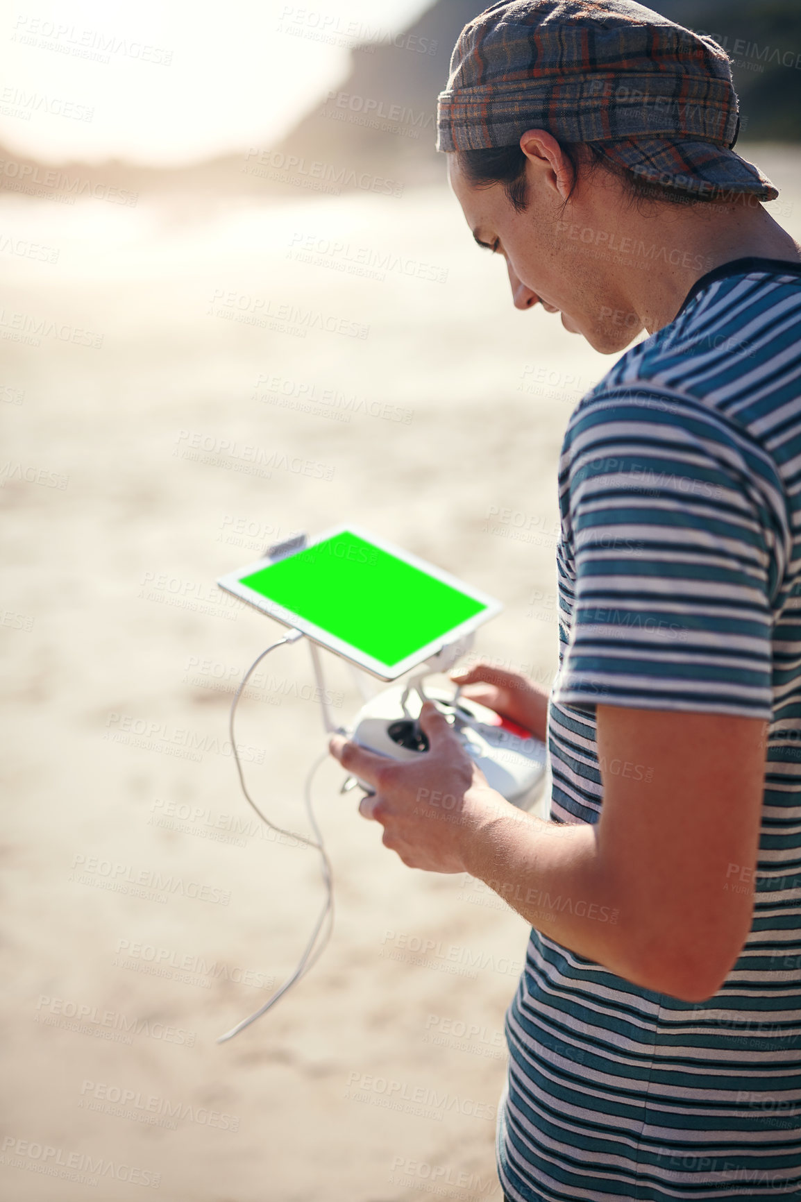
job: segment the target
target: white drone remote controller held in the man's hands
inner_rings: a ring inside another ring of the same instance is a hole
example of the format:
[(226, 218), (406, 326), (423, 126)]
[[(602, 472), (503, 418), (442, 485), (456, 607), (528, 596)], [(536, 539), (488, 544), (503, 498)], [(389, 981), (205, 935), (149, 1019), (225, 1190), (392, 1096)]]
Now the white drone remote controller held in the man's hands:
[[(405, 708), (403, 696), (408, 694)], [(467, 697), (453, 697), (444, 689), (426, 689), (428, 701), (453, 727), (464, 750), (487, 778), (487, 784), (512, 805), (532, 808), (545, 779), (547, 749), (522, 726), (500, 718), (493, 709)], [(410, 762), (428, 750), (420, 727), (422, 700), (416, 689), (404, 685), (386, 689), (357, 714), (351, 738), (378, 755)], [(372, 785), (358, 781), (367, 792)]]

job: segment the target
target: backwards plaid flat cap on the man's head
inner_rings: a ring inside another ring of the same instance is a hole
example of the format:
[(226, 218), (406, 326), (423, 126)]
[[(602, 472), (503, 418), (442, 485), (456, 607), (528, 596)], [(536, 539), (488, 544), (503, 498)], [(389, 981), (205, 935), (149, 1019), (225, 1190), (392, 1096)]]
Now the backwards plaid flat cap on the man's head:
[(469, 22), (439, 95), (437, 149), (510, 147), (529, 129), (595, 142), (646, 183), (699, 195), (778, 190), (734, 154), (725, 52), (634, 0), (500, 0)]

